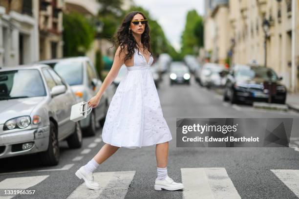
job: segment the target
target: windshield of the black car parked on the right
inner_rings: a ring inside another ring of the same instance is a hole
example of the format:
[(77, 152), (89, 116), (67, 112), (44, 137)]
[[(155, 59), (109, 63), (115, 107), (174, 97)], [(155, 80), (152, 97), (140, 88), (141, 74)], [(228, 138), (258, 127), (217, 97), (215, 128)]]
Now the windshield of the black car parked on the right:
[(243, 67), (240, 68), (236, 73), (236, 78), (247, 78), (247, 79), (255, 79), (260, 78), (263, 80), (278, 80), (278, 76), (276, 73), (270, 69), (265, 67)]

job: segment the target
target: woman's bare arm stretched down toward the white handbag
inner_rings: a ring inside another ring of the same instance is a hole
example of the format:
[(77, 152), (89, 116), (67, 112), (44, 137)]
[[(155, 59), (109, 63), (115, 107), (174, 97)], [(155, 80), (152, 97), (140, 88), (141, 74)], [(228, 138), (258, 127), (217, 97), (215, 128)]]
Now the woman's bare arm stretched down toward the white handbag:
[(100, 90), (93, 98), (91, 98), (88, 101), (88, 105), (90, 107), (92, 106), (93, 108), (95, 108), (96, 106), (98, 106), (103, 93), (106, 91), (107, 87), (110, 86), (112, 81), (117, 77), (121, 66), (124, 64), (125, 55), (126, 55), (126, 49), (124, 49), (120, 53), (120, 46), (119, 46), (115, 52), (112, 67), (111, 67), (109, 73), (107, 74), (105, 80), (103, 81)]

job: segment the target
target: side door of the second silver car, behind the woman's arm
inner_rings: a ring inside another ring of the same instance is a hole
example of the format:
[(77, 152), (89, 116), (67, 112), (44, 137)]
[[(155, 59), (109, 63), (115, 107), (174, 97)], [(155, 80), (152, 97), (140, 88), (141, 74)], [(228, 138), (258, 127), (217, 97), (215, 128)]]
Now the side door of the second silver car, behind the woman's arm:
[[(88, 81), (87, 82), (88, 92), (90, 92), (92, 96), (95, 96), (101, 88), (102, 81), (98, 79), (96, 75), (96, 71), (94, 70), (94, 67), (90, 61), (86, 61), (86, 71), (87, 71), (87, 81)], [(92, 79), (98, 80), (95, 87), (92, 85)], [(105, 98), (106, 98), (105, 95), (106, 94), (104, 93), (100, 100), (99, 105), (95, 109), (97, 120), (105, 116)]]

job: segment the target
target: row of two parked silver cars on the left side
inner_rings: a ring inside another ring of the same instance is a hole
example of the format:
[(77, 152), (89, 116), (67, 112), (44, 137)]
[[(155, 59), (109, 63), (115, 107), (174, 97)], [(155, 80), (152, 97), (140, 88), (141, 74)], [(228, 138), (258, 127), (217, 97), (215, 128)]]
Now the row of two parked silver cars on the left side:
[(71, 106), (89, 100), (101, 84), (87, 57), (2, 68), (0, 158), (37, 154), (44, 165), (57, 165), (59, 141), (80, 148), (83, 134), (95, 135), (97, 122), (104, 124), (106, 93), (87, 119), (70, 120)]

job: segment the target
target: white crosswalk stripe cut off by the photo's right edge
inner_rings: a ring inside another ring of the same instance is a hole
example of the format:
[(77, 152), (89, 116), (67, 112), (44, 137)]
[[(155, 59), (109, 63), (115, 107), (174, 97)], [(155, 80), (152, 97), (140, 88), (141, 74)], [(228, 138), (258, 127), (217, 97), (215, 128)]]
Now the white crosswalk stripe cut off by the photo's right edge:
[(297, 197), (299, 197), (299, 170), (270, 169)]

